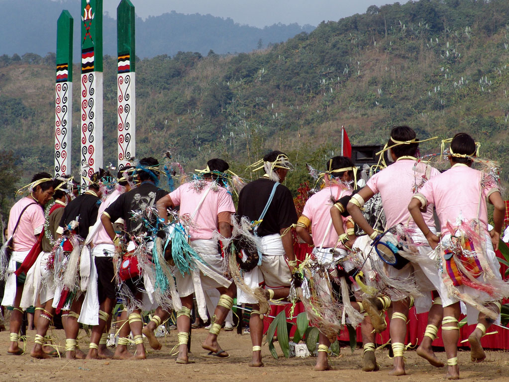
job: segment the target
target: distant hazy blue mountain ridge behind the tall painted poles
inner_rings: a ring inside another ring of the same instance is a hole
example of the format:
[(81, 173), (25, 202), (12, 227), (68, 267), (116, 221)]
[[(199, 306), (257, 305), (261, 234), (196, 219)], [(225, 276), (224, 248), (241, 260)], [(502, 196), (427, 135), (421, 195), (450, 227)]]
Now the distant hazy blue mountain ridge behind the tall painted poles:
[[(0, 0), (0, 54), (36, 53), (45, 55), (56, 49), (56, 20), (67, 9), (74, 18), (74, 62), (78, 62), (80, 39), (79, 1)], [(136, 6), (136, 4), (135, 4)], [(114, 15), (116, 17), (116, 15)], [(211, 15), (184, 15), (172, 11), (146, 20), (136, 17), (136, 55), (140, 58), (179, 51), (207, 54), (249, 52), (269, 43), (286, 41), (311, 32), (312, 25), (274, 24), (264, 28), (240, 25), (231, 18)], [(103, 16), (104, 54), (117, 54), (117, 21)]]

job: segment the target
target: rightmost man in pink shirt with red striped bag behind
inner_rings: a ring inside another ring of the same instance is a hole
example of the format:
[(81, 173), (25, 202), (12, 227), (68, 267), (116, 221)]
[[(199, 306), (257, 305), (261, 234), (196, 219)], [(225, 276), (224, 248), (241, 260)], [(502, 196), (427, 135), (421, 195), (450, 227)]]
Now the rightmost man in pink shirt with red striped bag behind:
[[(426, 183), (413, 196), (408, 210), (430, 246), (437, 248), (443, 283), (453, 292), (442, 295), (442, 338), (447, 355), (447, 378), (458, 379), (459, 301), (468, 304), (468, 324), (478, 318), (477, 327), (468, 341), (472, 361), (481, 362), (486, 355), (479, 340), (500, 313), (497, 300), (507, 297), (509, 291), (501, 280), (500, 265), (494, 252), (498, 248), (505, 213), (500, 191), (491, 175), (471, 168), (476, 144), (468, 134), (456, 134), (449, 151), (452, 167)], [(486, 199), (494, 206), (494, 228), (490, 232)], [(435, 204), (441, 222), (440, 238), (423, 218), (429, 204)], [(486, 287), (491, 288), (490, 294), (484, 291)], [(469, 306), (480, 313), (471, 314)]]

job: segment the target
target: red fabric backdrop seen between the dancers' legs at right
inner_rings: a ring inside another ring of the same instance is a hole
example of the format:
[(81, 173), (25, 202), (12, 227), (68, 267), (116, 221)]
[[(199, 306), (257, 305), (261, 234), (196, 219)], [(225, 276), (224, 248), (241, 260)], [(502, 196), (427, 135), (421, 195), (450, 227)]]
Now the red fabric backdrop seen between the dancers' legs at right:
[[(311, 251), (312, 251), (312, 248), (310, 248), (307, 244), (300, 244), (300, 243), (295, 244), (295, 255), (299, 260), (303, 260), (306, 256), (306, 254), (310, 253)], [(501, 255), (501, 253), (499, 251), (497, 251), (497, 256), (503, 258), (503, 256)], [(500, 271), (501, 271), (502, 277), (504, 279), (506, 278), (506, 277), (504, 277), (506, 269), (507, 269), (506, 266), (504, 266), (503, 264), (500, 265)], [(504, 303), (505, 302), (506, 301), (504, 301)], [(291, 304), (286, 304), (283, 306), (273, 305), (271, 307), (271, 309), (272, 309), (272, 312), (271, 312), (272, 316), (275, 316), (282, 310), (285, 310), (287, 317), (289, 317)], [(295, 306), (293, 316), (296, 317), (300, 312), (303, 312), (303, 311), (304, 311), (304, 308), (303, 308), (302, 304), (299, 302)], [(295, 323), (295, 318), (292, 320), (289, 320), (289, 321)], [(270, 322), (272, 322), (272, 318), (267, 317), (264, 319), (264, 331), (267, 331), (267, 329), (270, 325)], [(387, 322), (388, 322), (388, 320), (387, 320)], [(428, 322), (428, 313), (415, 314), (415, 308), (412, 308), (410, 310), (410, 314), (409, 314), (409, 322), (407, 325), (407, 337), (406, 337), (405, 343), (407, 343), (407, 344), (412, 343), (413, 345), (419, 344), (420, 341), (422, 340), (422, 337), (426, 330), (427, 322)], [(383, 344), (383, 343), (386, 343), (389, 341), (389, 330), (388, 329), (389, 329), (389, 325), (387, 325), (387, 330), (385, 330), (383, 333), (377, 335), (376, 341), (378, 344)], [(461, 343), (461, 341), (467, 339), (468, 336), (470, 335), (470, 333), (472, 333), (472, 331), (474, 329), (475, 329), (475, 325), (470, 325), (470, 326), (465, 325), (461, 328), (460, 342), (459, 342), (460, 346), (468, 347), (468, 342)], [(294, 331), (295, 331), (295, 329), (292, 329), (292, 332), (290, 333), (291, 336), (293, 336)], [(509, 328), (492, 326), (490, 329), (488, 329), (488, 332), (494, 332), (494, 331), (496, 331), (498, 333), (488, 335), (481, 340), (481, 344), (483, 345), (483, 347), (491, 348), (491, 349), (509, 349)], [(341, 331), (339, 339), (342, 341), (349, 341), (348, 331), (346, 329)], [(357, 339), (359, 342), (361, 341), (360, 328), (357, 329)], [(443, 342), (441, 339), (441, 330), (439, 330), (439, 332), (438, 332), (438, 338), (435, 341), (433, 341), (433, 345), (434, 346), (443, 346)]]

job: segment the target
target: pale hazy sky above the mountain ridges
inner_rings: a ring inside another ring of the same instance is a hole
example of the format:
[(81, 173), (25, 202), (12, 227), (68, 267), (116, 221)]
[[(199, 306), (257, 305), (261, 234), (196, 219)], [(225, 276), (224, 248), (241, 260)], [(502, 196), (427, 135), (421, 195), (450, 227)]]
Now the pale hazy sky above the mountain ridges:
[[(395, 3), (391, 0), (131, 0), (139, 17), (176, 11), (230, 17), (240, 24), (263, 27), (281, 22), (318, 25), (364, 13), (371, 5)], [(401, 4), (407, 0), (400, 0)], [(117, 17), (119, 0), (103, 0), (103, 10)]]

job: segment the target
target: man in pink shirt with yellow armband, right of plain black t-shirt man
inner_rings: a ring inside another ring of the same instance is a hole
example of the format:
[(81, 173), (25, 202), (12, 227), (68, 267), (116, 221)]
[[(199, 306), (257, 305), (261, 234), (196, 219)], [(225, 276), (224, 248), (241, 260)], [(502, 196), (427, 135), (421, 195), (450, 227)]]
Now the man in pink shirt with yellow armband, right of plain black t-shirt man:
[[(347, 157), (331, 158), (327, 162), (327, 169), (324, 174), (325, 187), (306, 201), (302, 215), (297, 222), (296, 231), (298, 235), (308, 245), (315, 246), (313, 254), (321, 265), (328, 266), (346, 257), (347, 247), (345, 245), (353, 243), (352, 239), (355, 238), (354, 234), (348, 235), (346, 233), (348, 231), (346, 224), (347, 219), (341, 218), (341, 232), (338, 233), (332, 226), (333, 221), (330, 214), (331, 206), (336, 200), (352, 194), (352, 189), (350, 187), (352, 179), (353, 163), (350, 159)], [(309, 234), (309, 227), (311, 228), (313, 237)], [(349, 240), (352, 240), (352, 242), (349, 242)], [(350, 265), (351, 261), (342, 262), (342, 266), (345, 267), (346, 271), (350, 271), (350, 269), (346, 269), (347, 263)], [(315, 282), (320, 282), (320, 280), (316, 280)], [(356, 302), (352, 302), (352, 306), (357, 310), (362, 310), (361, 306)], [(313, 314), (313, 312), (310, 312), (310, 314)], [(335, 318), (340, 319), (340, 317)], [(371, 333), (372, 331), (373, 326), (371, 325), (370, 318), (365, 317), (362, 321), (362, 340), (364, 344), (374, 343), (375, 335)], [(319, 343), (315, 370), (329, 370), (327, 350), (331, 341), (327, 335), (324, 334), (323, 330), (320, 331)], [(365, 351), (364, 358), (366, 358), (366, 356), (373, 356), (374, 358), (374, 352)], [(371, 360), (371, 366), (367, 366), (367, 363), (368, 362), (365, 362), (363, 367), (365, 371), (375, 370), (376, 360)]]

